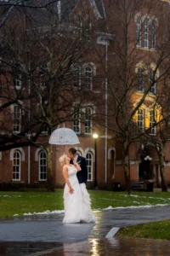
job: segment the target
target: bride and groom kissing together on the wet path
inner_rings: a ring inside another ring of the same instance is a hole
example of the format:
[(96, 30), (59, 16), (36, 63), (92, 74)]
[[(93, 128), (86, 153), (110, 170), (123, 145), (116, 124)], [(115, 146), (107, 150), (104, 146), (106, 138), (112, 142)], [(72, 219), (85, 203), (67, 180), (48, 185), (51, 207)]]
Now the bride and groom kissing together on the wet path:
[(91, 209), (91, 200), (86, 189), (88, 167), (86, 159), (77, 155), (76, 148), (70, 148), (67, 154), (59, 158), (65, 178), (63, 223), (95, 223)]

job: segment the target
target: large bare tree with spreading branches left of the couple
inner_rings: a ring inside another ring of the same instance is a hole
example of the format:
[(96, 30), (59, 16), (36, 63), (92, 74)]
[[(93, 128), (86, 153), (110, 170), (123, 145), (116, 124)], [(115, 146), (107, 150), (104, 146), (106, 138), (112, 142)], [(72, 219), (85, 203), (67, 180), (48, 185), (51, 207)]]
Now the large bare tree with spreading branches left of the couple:
[[(62, 19), (58, 4), (51, 3), (46, 9), (16, 11), (1, 29), (0, 150), (42, 145), (48, 152), (49, 190), (54, 190), (54, 172), (48, 137), (60, 124), (77, 119), (94, 97), (85, 71), (82, 87), (78, 81), (77, 67), (88, 61), (92, 33), (82, 17)], [(38, 140), (42, 132), (43, 141)]]

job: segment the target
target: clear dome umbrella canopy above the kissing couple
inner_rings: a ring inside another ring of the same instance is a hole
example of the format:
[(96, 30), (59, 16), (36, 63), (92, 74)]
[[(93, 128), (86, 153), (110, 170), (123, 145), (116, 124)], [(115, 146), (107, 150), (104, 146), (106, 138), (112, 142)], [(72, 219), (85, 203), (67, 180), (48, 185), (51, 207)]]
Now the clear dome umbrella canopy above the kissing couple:
[(49, 138), (49, 144), (54, 145), (74, 145), (79, 143), (77, 134), (65, 127), (54, 130)]

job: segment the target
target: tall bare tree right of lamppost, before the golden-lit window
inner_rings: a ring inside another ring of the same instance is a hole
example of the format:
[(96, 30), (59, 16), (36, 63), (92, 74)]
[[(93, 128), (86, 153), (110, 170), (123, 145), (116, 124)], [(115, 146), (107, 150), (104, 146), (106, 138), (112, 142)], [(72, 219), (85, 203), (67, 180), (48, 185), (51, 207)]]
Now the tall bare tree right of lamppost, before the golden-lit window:
[[(130, 151), (144, 135), (150, 137), (151, 143), (153, 127), (163, 122), (155, 113), (161, 108), (160, 88), (170, 67), (168, 22), (164, 26), (169, 13), (167, 3), (160, 1), (121, 0), (108, 3), (105, 9), (107, 32), (115, 35), (114, 44), (107, 49), (105, 69), (107, 129), (122, 143), (125, 183), (130, 190)], [(114, 24), (112, 30), (110, 24)], [(105, 61), (102, 63), (105, 68)], [(145, 121), (144, 108), (147, 108)]]

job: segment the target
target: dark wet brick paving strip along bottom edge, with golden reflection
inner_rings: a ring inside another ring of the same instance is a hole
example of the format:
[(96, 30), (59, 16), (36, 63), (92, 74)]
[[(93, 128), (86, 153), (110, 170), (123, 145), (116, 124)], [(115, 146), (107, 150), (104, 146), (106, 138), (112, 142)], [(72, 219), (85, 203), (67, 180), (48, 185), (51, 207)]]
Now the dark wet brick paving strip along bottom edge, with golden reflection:
[(23, 242), (13, 243), (13, 247), (10, 242), (5, 242), (0, 245), (0, 250), (1, 256), (167, 256), (170, 255), (170, 242), (141, 238), (112, 238), (111, 240), (88, 239), (77, 243)]

